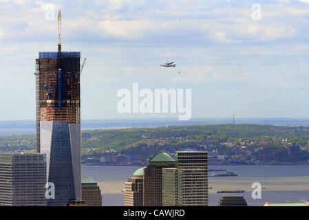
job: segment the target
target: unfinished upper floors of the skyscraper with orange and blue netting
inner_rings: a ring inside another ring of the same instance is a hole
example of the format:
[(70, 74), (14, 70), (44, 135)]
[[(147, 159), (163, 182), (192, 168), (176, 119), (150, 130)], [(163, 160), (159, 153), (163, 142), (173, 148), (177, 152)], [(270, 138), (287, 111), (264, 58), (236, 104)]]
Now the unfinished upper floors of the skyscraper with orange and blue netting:
[(40, 122), (81, 123), (80, 52), (40, 52), (36, 59), (36, 137)]

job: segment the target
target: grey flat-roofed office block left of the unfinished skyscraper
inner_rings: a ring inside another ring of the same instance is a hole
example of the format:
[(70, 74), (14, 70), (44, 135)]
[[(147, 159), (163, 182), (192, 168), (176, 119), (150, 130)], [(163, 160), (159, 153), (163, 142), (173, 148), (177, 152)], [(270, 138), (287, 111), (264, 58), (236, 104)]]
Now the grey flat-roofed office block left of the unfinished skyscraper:
[(0, 154), (0, 206), (46, 206), (46, 157)]

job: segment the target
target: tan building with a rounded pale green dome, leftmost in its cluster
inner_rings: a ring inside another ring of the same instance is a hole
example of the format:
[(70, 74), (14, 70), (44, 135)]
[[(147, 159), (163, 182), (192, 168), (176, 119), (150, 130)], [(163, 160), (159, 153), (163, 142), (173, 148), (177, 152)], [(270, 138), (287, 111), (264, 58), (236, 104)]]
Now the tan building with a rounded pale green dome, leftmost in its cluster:
[(143, 206), (144, 169), (138, 168), (125, 183), (124, 206)]

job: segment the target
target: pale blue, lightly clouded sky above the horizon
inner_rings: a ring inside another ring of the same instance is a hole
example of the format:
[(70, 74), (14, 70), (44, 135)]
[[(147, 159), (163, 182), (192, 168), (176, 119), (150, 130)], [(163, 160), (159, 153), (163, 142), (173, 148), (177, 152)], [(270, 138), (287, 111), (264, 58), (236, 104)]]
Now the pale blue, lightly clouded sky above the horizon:
[(133, 83), (191, 89), (192, 118), (309, 118), (309, 0), (0, 0), (0, 8), (0, 120), (35, 120), (35, 58), (56, 51), (59, 9), (63, 51), (87, 58), (82, 119), (177, 117), (119, 113), (117, 91)]

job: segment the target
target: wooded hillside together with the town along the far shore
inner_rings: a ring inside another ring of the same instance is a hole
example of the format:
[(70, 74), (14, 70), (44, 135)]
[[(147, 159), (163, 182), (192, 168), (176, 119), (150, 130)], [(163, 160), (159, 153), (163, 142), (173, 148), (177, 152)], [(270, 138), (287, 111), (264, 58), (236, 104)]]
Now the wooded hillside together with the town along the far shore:
[[(222, 124), (83, 131), (82, 163), (145, 166), (160, 151), (208, 151), (210, 165), (309, 164), (306, 126)], [(1, 152), (32, 151), (34, 135), (0, 137)]]

